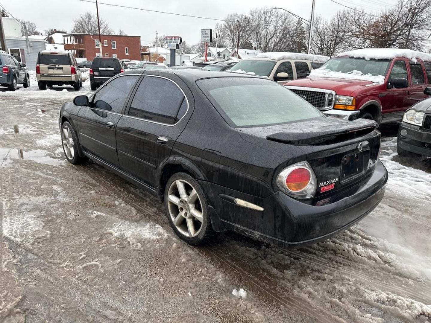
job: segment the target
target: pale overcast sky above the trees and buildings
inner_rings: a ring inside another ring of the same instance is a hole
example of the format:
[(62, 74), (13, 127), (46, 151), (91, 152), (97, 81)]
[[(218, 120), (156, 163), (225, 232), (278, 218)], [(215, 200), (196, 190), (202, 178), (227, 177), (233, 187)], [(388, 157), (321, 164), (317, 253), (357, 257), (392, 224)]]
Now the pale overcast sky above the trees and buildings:
[[(394, 6), (396, 0), (335, 0), (347, 6), (362, 8), (365, 12), (376, 12)], [(285, 8), (307, 20), (310, 19), (312, 0), (100, 0), (102, 3), (120, 4), (137, 8), (175, 12), (193, 16), (223, 19), (231, 12), (247, 13), (260, 6)], [(80, 0), (0, 0), (17, 19), (30, 20), (44, 33), (49, 28), (70, 31), (73, 19), (86, 11), (96, 12), (94, 3)], [(331, 0), (316, 0), (315, 15), (330, 18), (334, 12), (344, 9)], [(189, 44), (200, 41), (200, 29), (214, 28), (217, 21), (190, 17), (172, 16), (163, 13), (136, 9), (118, 8), (99, 3), (99, 14), (107, 20), (114, 31), (123, 29), (126, 34), (141, 36), (142, 44), (152, 44), (156, 31), (166, 36), (181, 36)]]

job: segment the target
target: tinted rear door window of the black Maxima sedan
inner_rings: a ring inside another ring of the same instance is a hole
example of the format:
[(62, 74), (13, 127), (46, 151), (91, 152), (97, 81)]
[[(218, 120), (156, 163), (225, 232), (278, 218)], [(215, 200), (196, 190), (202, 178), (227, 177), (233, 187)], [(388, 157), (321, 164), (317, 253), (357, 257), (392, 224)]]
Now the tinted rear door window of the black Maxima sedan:
[(164, 78), (145, 76), (137, 88), (128, 115), (175, 124), (186, 112), (187, 99), (178, 85)]

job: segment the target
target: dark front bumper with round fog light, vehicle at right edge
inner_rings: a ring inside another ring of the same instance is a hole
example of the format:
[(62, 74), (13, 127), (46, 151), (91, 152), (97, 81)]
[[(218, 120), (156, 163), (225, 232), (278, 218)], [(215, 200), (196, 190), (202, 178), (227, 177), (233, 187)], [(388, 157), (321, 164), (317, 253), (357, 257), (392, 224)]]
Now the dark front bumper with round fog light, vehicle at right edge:
[[(405, 136), (401, 135), (401, 130), (406, 130)], [(431, 131), (401, 122), (397, 146), (409, 152), (431, 157)]]

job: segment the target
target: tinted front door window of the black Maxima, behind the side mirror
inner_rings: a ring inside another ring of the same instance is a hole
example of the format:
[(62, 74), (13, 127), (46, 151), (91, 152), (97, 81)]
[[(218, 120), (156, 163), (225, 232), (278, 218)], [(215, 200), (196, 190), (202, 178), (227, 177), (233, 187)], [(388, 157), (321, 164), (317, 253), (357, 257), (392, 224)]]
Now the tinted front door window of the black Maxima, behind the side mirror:
[(139, 75), (124, 75), (109, 81), (94, 95), (93, 107), (121, 113), (124, 102), (138, 78)]

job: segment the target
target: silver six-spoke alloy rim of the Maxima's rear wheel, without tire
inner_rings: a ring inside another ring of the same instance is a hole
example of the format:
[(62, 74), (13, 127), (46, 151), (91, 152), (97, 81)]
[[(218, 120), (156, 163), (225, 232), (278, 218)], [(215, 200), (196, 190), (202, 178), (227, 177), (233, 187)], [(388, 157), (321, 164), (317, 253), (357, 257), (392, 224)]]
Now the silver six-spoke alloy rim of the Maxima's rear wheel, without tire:
[(204, 214), (196, 189), (185, 180), (175, 180), (169, 187), (167, 201), (169, 216), (177, 230), (189, 238), (197, 236)]

